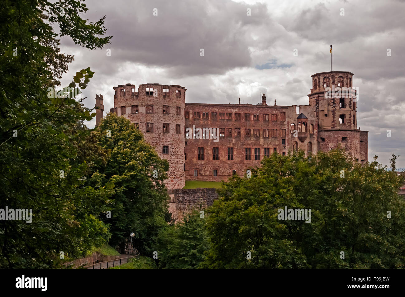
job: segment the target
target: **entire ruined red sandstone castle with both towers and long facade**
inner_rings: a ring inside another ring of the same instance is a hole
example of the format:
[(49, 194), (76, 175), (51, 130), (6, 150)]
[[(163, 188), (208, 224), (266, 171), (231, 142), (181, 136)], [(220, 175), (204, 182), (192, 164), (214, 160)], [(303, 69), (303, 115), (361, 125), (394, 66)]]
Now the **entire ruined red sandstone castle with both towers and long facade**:
[[(127, 83), (113, 88), (111, 112), (138, 125), (145, 140), (168, 160), (165, 183), (174, 190), (183, 188), (186, 180), (221, 181), (235, 173), (245, 175), (274, 152), (311, 154), (340, 143), (355, 160), (367, 162), (368, 131), (357, 128), (356, 96), (336, 91), (352, 88), (352, 79), (353, 73), (347, 71), (316, 73), (309, 105), (292, 106), (268, 105), (265, 94), (257, 105), (240, 104), (240, 100), (237, 104), (185, 103), (186, 89), (180, 85), (147, 83), (136, 90)], [(104, 109), (102, 95), (96, 95), (96, 106)], [(101, 117), (102, 111), (96, 113), (96, 124)], [(198, 128), (213, 130), (202, 133)]]

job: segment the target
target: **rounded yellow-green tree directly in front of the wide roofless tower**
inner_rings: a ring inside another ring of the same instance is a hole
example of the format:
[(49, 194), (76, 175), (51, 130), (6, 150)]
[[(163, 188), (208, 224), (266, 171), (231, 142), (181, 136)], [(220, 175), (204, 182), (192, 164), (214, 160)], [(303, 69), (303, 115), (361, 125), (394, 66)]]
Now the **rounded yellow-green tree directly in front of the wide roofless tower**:
[(115, 185), (115, 193), (110, 197), (114, 201), (111, 218), (105, 219), (111, 224), (110, 244), (119, 244), (123, 249), (129, 234), (134, 232), (132, 244), (142, 254), (151, 256), (159, 231), (167, 225), (169, 197), (163, 180), (167, 178), (168, 162), (159, 158), (134, 124), (115, 113), (107, 114), (95, 133), (109, 158), (107, 163), (96, 165), (97, 178), (93, 180)]

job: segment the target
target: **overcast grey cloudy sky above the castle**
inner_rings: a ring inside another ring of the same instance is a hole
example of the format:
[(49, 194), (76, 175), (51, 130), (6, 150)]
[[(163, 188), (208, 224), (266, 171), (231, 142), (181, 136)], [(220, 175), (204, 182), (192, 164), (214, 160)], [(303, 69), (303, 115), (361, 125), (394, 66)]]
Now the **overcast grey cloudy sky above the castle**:
[[(357, 125), (369, 131), (369, 161), (378, 155), (388, 165), (394, 153), (401, 155), (397, 167), (405, 167), (405, 1), (85, 3), (89, 11), (82, 17), (106, 15), (107, 35), (113, 36), (96, 51), (62, 38), (61, 51), (75, 56), (62, 85), (80, 69), (95, 72), (83, 92), (87, 107), (102, 94), (105, 115), (113, 107), (113, 87), (125, 83), (136, 89), (143, 83), (181, 85), (187, 103), (237, 103), (239, 97), (251, 103), (251, 89), (253, 103), (266, 93), (268, 104), (277, 98), (277, 105), (308, 105), (311, 75), (330, 71), (333, 45), (332, 69), (354, 73), (359, 88)], [(87, 124), (93, 128), (95, 120)]]

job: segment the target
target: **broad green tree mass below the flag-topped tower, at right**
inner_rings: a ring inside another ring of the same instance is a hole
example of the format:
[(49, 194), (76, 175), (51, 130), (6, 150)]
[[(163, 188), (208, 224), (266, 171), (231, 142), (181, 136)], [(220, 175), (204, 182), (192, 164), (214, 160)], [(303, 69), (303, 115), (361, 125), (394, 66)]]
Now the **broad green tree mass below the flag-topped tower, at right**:
[[(251, 178), (234, 176), (222, 187), (209, 209), (211, 250), (202, 266), (401, 268), (402, 180), (376, 158), (361, 165), (341, 148), (309, 158), (273, 154)], [(311, 209), (311, 222), (279, 220), (286, 206)]]

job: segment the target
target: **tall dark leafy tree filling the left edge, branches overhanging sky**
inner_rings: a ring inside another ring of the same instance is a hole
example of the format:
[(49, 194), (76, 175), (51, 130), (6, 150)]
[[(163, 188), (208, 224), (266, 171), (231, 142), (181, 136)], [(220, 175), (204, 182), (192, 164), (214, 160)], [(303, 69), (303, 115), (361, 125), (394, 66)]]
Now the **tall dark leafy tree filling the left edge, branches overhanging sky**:
[(109, 240), (98, 214), (112, 185), (85, 186), (91, 160), (81, 152), (90, 135), (83, 121), (94, 114), (73, 98), (94, 73), (77, 72), (73, 91), (49, 92), (73, 59), (60, 53), (50, 23), (89, 49), (111, 38), (100, 37), (104, 18), (89, 23), (79, 16), (87, 11), (81, 2), (5, 0), (0, 6), (0, 208), (33, 212), (32, 223), (0, 221), (0, 267), (52, 267), (60, 252), (79, 257)]

